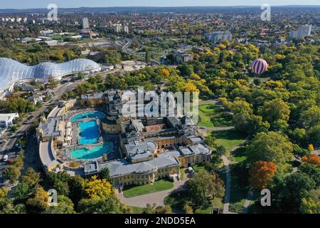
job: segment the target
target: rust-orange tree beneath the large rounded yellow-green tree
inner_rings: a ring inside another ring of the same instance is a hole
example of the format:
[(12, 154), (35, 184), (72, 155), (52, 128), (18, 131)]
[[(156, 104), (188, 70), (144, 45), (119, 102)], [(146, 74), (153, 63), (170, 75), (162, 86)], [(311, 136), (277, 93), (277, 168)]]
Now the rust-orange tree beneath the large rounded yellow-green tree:
[(274, 162), (257, 161), (249, 172), (250, 185), (258, 190), (265, 189), (277, 172)]

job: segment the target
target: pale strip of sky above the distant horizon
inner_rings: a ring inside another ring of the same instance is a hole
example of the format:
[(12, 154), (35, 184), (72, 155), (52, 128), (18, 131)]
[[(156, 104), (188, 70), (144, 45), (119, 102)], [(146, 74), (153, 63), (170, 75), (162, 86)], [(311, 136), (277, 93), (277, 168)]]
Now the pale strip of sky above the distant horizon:
[(319, 0), (0, 0), (0, 9), (47, 8), (48, 4), (60, 8), (113, 7), (113, 6), (261, 6), (320, 5)]

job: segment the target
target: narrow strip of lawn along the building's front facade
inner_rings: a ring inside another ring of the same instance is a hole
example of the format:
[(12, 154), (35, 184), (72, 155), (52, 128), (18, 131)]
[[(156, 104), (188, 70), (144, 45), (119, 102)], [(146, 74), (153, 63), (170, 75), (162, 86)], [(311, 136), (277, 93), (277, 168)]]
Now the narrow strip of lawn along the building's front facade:
[(169, 180), (158, 180), (148, 185), (138, 185), (129, 187), (127, 190), (123, 190), (124, 197), (137, 197), (138, 195), (149, 194), (152, 192), (159, 192), (163, 190), (169, 190), (174, 187), (174, 183)]

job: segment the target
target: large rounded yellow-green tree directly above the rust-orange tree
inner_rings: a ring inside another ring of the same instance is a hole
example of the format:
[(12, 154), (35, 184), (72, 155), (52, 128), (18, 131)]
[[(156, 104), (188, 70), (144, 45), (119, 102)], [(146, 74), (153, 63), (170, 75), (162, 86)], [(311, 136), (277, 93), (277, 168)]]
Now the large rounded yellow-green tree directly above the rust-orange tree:
[(287, 137), (275, 132), (258, 133), (246, 147), (249, 160), (274, 162), (277, 167), (292, 159), (293, 145)]

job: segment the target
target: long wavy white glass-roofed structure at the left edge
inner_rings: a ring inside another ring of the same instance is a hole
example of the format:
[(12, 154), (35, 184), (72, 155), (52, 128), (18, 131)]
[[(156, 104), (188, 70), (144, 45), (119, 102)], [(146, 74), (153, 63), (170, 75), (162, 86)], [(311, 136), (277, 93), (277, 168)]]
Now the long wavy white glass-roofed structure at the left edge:
[(61, 78), (83, 71), (100, 71), (101, 66), (94, 61), (78, 58), (66, 63), (40, 63), (36, 66), (26, 66), (10, 58), (0, 58), (0, 90), (15, 81), (32, 78)]

